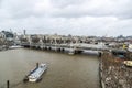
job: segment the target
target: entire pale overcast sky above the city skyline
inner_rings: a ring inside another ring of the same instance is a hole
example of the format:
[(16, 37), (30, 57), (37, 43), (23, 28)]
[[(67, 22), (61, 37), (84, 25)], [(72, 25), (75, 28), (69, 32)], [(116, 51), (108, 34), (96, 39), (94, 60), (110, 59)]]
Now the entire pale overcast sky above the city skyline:
[(0, 0), (0, 31), (132, 35), (132, 0)]

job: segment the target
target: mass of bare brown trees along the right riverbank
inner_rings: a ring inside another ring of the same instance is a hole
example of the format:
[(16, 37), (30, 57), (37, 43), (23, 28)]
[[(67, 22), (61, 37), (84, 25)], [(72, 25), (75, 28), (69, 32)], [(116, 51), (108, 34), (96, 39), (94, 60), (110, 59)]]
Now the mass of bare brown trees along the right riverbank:
[(132, 68), (109, 53), (100, 59), (99, 76), (102, 88), (132, 88)]

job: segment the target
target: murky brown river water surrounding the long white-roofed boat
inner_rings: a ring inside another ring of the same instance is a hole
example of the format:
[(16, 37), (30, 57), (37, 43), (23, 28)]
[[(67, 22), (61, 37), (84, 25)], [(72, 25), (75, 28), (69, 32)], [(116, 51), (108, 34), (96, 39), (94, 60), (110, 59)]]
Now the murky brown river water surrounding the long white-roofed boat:
[[(23, 77), (36, 63), (48, 69), (40, 82), (23, 84)], [(99, 88), (97, 57), (26, 48), (0, 52), (0, 88), (9, 79), (12, 88)]]

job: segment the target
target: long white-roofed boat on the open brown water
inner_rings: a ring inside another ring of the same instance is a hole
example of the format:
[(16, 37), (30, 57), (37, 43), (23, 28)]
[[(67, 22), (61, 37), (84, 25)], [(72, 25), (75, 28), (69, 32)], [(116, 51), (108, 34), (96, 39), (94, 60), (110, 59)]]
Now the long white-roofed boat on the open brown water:
[(36, 65), (35, 69), (31, 70), (29, 75), (26, 75), (23, 81), (35, 82), (42, 79), (43, 73), (47, 69), (46, 64)]

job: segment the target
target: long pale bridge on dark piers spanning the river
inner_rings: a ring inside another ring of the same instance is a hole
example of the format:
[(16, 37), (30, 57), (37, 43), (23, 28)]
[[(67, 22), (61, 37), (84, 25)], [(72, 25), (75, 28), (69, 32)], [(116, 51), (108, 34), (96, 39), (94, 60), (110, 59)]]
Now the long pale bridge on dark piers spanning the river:
[(68, 52), (69, 54), (86, 51), (109, 50), (105, 43), (84, 43), (78, 38), (62, 36), (28, 35), (21, 37), (21, 46), (40, 50), (54, 50), (56, 52)]

